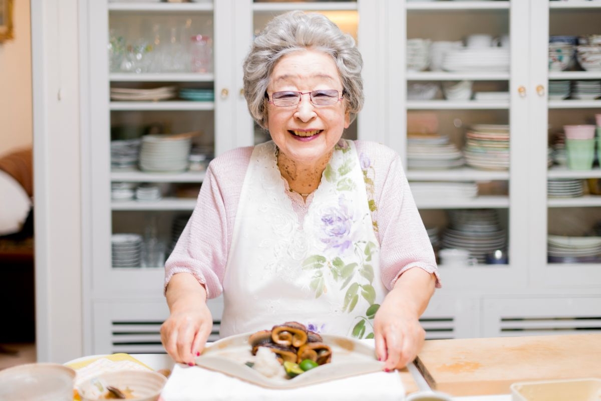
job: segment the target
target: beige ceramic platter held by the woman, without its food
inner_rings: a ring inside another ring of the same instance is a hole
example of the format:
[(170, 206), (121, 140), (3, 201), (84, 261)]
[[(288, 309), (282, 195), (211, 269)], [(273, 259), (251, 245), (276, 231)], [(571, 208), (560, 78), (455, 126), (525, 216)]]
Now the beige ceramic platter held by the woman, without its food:
[(281, 375), (268, 378), (247, 362), (254, 362), (248, 337), (252, 333), (222, 338), (207, 347), (196, 364), (206, 369), (225, 373), (267, 388), (294, 388), (365, 373), (380, 372), (384, 363), (376, 359), (376, 351), (368, 344), (349, 337), (322, 334), (323, 342), (332, 349), (331, 363), (308, 370), (295, 378), (288, 378), (282, 367)]

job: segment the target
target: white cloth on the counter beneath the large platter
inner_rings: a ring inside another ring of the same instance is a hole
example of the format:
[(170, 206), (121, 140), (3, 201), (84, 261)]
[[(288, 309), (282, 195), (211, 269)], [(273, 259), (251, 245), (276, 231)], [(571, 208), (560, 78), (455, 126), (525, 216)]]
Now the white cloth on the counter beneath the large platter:
[(377, 372), (286, 390), (264, 388), (199, 366), (174, 366), (161, 393), (164, 401), (403, 400), (398, 372)]

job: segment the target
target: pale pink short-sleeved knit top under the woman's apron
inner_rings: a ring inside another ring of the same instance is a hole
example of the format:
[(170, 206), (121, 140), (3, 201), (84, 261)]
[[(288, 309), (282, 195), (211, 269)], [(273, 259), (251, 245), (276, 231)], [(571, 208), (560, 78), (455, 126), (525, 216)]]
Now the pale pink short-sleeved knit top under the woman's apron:
[[(368, 165), (373, 168), (368, 169), (374, 181), (370, 198), (376, 204), (371, 219), (378, 227), (383, 284), (390, 290), (404, 271), (418, 267), (435, 274), (436, 287), (440, 287), (432, 245), (413, 201), (400, 157), (376, 142), (355, 141), (355, 145), (362, 168)], [(209, 298), (221, 295), (240, 191), (251, 153), (252, 147), (236, 148), (210, 163), (192, 217), (165, 263), (165, 289), (174, 274), (188, 272), (206, 286)], [(283, 181), (287, 187), (288, 183)], [(305, 204), (300, 195), (290, 191), (287, 194), (302, 221), (312, 195)]]

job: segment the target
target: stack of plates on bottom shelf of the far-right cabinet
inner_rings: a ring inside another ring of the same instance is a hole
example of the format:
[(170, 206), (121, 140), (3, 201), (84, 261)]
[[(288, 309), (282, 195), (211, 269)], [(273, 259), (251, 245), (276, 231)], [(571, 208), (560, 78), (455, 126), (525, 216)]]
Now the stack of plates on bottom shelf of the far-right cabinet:
[(597, 262), (601, 256), (601, 237), (547, 237), (549, 262), (577, 263)]

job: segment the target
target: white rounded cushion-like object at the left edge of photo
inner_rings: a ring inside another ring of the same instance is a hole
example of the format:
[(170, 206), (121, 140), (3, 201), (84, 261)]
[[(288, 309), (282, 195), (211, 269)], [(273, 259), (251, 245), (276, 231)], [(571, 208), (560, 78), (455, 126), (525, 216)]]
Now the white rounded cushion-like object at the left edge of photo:
[(17, 180), (0, 170), (0, 235), (18, 233), (31, 209), (31, 199)]

